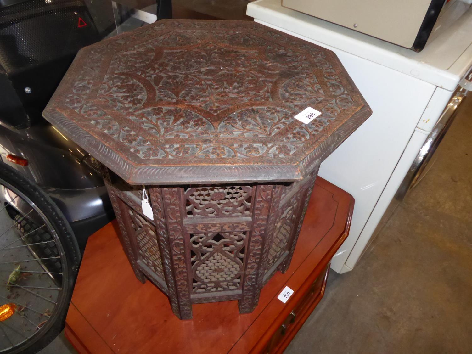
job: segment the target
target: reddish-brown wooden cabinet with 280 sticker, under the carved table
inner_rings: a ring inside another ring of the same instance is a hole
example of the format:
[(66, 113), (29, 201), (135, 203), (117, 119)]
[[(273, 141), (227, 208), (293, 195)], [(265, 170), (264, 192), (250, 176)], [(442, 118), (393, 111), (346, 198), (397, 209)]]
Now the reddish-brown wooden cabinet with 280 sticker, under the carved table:
[[(85, 249), (66, 336), (79, 353), (282, 353), (323, 296), (353, 207), (351, 195), (318, 177), (290, 267), (262, 288), (255, 310), (239, 314), (236, 301), (195, 304), (184, 321), (163, 293), (135, 278), (110, 223)], [(284, 304), (277, 296), (286, 286), (294, 293)]]

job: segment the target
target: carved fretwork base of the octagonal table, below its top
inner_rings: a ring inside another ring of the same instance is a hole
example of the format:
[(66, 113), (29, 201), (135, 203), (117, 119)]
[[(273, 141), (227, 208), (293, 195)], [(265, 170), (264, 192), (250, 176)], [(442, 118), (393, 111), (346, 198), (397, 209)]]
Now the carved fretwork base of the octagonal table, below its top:
[(182, 320), (193, 303), (238, 300), (240, 313), (254, 310), (263, 285), (290, 265), (318, 172), (286, 184), (147, 185), (151, 220), (143, 186), (102, 169), (136, 277), (168, 295)]

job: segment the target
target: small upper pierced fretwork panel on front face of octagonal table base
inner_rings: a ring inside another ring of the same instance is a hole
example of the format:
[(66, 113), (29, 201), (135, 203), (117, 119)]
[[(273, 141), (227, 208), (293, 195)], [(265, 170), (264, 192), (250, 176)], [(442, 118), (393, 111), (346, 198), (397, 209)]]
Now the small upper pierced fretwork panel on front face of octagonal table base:
[(185, 189), (187, 217), (249, 216), (250, 185), (190, 187)]

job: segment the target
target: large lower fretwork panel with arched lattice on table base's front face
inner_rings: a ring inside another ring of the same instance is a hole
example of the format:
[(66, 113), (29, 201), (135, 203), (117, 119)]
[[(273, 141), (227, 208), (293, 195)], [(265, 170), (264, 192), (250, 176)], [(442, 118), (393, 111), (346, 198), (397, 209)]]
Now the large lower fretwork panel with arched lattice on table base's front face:
[(190, 234), (193, 292), (241, 288), (246, 232)]

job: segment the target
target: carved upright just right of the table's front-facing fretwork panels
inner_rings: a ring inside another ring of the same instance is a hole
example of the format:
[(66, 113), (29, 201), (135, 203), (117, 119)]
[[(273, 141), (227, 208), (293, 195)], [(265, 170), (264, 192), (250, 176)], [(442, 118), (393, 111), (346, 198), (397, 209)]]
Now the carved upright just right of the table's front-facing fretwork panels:
[[(253, 230), (248, 240), (246, 268), (244, 272), (243, 295), (239, 301), (239, 312), (249, 313), (259, 302), (263, 272), (261, 271), (261, 257), (264, 248), (267, 220), (272, 203), (272, 185), (258, 185), (256, 187), (253, 208)], [(262, 273), (262, 274), (261, 274)]]

